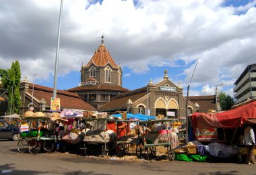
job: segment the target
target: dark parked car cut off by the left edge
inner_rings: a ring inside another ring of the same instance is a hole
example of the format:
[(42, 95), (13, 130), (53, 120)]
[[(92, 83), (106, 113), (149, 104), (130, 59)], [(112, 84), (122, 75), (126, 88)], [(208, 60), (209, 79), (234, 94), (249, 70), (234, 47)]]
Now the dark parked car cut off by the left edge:
[(13, 127), (7, 121), (0, 119), (0, 139), (19, 139), (19, 129)]

